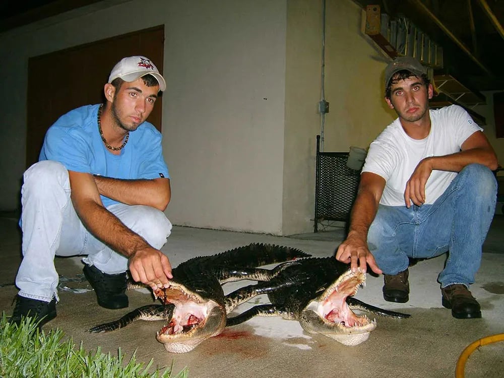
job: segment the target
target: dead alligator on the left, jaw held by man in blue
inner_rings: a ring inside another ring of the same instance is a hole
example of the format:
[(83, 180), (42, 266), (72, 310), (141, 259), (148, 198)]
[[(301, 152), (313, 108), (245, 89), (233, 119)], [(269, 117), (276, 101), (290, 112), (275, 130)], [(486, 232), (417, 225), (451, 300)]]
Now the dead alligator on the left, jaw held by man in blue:
[(113, 331), (138, 319), (166, 320), (156, 339), (168, 352), (189, 352), (205, 339), (220, 334), (226, 327), (227, 312), (242, 302), (239, 295), (226, 299), (221, 284), (238, 280), (269, 281), (291, 263), (272, 270), (255, 267), (309, 256), (295, 248), (253, 243), (218, 255), (193, 258), (172, 270), (170, 287), (154, 291), (162, 304), (142, 306), (118, 321), (89, 331)]

